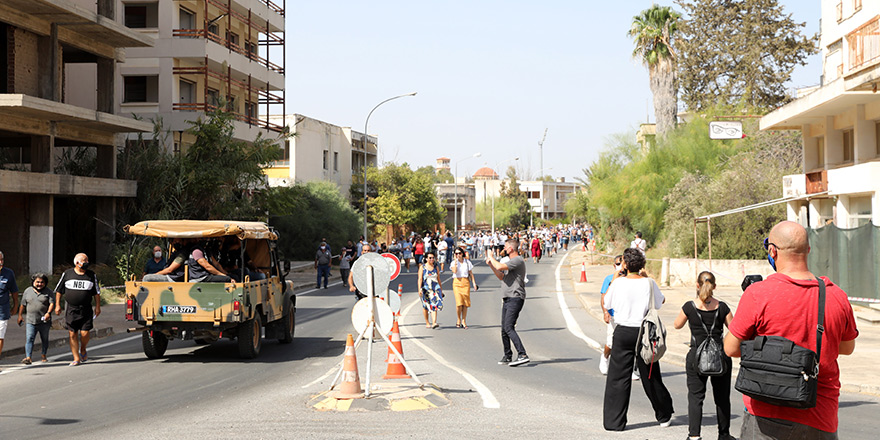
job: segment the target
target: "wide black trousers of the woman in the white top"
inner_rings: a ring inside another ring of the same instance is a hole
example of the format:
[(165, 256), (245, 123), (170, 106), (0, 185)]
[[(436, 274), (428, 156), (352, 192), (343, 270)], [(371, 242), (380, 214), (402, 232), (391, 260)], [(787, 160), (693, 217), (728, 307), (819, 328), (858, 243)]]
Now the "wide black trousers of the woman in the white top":
[[(646, 364), (636, 356), (638, 327), (618, 325), (614, 329), (608, 376), (605, 378), (605, 405), (602, 411), (606, 431), (623, 431), (626, 428), (626, 412), (632, 393), (632, 366), (635, 360), (641, 376), (642, 388), (654, 408), (654, 417), (663, 423), (672, 419), (672, 396), (663, 385), (660, 362)], [(634, 359), (636, 358), (636, 359)]]

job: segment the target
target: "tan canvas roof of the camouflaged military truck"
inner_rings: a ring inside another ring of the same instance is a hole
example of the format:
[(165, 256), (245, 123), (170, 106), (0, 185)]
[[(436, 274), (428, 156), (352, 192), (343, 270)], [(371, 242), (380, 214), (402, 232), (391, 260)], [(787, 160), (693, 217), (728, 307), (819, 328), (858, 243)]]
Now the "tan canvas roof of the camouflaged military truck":
[(167, 238), (216, 238), (234, 235), (244, 239), (277, 240), (278, 235), (262, 222), (238, 220), (149, 220), (126, 225), (131, 235)]

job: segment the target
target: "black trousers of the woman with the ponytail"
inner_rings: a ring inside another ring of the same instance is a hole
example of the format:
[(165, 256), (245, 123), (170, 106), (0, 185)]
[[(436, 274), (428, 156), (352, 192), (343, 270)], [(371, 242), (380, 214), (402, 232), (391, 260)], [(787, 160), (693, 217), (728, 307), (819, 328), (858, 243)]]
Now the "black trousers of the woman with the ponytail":
[(706, 381), (712, 382), (712, 397), (715, 399), (715, 414), (718, 417), (718, 436), (730, 434), (730, 371), (733, 362), (724, 357), (725, 372), (721, 376), (703, 376), (697, 372), (695, 348), (687, 354), (685, 371), (688, 384), (688, 435), (700, 436), (703, 422), (703, 400), (706, 398)]

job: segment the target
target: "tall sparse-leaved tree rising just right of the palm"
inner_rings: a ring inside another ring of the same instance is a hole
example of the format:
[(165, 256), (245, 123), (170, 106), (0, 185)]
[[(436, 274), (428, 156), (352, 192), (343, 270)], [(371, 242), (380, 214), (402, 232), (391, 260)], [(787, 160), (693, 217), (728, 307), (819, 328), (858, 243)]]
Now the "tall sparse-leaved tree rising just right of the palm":
[[(746, 106), (770, 110), (790, 100), (785, 82), (816, 52), (777, 0), (677, 0), (687, 19), (677, 42), (688, 110)], [(659, 122), (659, 119), (658, 119)]]

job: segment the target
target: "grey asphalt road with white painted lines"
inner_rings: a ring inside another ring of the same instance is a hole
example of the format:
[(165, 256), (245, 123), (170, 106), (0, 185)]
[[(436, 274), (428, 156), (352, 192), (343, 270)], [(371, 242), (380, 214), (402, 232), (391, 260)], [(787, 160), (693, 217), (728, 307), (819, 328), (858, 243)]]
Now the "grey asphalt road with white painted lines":
[[(517, 329), (532, 362), (516, 368), (497, 364), (502, 355), (500, 282), (484, 264), (477, 265), (480, 290), (472, 293), (467, 330), (455, 328), (451, 280), (444, 282), (447, 303), (436, 330), (425, 328), (415, 273), (392, 282), (392, 288), (404, 284), (405, 357), (422, 381), (446, 393), (451, 400), (446, 407), (318, 412), (307, 405), (329, 386), (345, 336), (354, 333), (349, 318), (353, 296), (337, 283), (328, 290), (301, 292), (295, 342), (266, 341), (253, 361), (238, 359), (232, 341), (210, 346), (173, 341), (165, 359), (148, 360), (140, 337), (123, 333), (95, 341), (89, 362), (79, 367), (67, 367), (70, 355), (64, 349), (51, 351), (49, 364), (4, 365), (0, 438), (685, 438), (685, 376), (671, 364), (663, 364), (675, 404), (671, 427), (658, 426), (635, 383), (627, 430), (602, 429), (605, 377), (588, 341), (603, 340), (604, 324), (581, 308), (567, 271), (557, 279), (560, 259), (529, 263), (528, 299)], [(366, 345), (358, 350), (362, 383)], [(385, 371), (385, 352), (384, 343), (374, 344), (374, 382)], [(741, 397), (734, 391), (731, 401), (732, 433), (737, 435)], [(876, 397), (844, 394), (840, 438), (876, 438), (878, 403)], [(715, 437), (714, 423), (714, 404), (707, 396), (705, 438)]]

